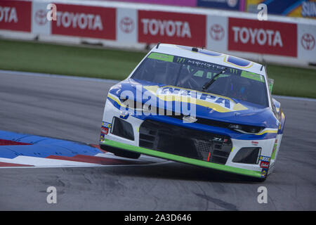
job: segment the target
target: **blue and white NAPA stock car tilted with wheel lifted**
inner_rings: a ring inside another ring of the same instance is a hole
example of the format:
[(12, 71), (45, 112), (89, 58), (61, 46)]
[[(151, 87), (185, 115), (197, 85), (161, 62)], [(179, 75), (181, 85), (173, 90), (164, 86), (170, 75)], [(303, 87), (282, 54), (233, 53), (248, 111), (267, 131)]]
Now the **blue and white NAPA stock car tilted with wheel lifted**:
[(264, 181), (285, 117), (265, 66), (223, 53), (157, 44), (110, 88), (100, 147)]

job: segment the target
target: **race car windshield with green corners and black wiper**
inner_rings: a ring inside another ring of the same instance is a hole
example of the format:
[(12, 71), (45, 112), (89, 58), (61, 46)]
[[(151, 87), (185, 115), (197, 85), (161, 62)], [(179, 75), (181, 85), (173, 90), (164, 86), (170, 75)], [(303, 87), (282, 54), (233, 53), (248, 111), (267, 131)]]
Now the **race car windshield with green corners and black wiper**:
[[(211, 85), (203, 89), (204, 84), (223, 70)], [(262, 75), (192, 58), (152, 52), (131, 78), (204, 91), (268, 107), (265, 79)]]

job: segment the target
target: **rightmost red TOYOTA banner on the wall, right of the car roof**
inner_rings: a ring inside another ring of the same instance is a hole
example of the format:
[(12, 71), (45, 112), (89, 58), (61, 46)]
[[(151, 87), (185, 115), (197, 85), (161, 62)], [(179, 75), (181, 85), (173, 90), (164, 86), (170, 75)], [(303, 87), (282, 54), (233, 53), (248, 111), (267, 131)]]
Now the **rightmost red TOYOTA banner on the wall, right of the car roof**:
[(228, 50), (297, 56), (297, 25), (272, 21), (228, 19)]

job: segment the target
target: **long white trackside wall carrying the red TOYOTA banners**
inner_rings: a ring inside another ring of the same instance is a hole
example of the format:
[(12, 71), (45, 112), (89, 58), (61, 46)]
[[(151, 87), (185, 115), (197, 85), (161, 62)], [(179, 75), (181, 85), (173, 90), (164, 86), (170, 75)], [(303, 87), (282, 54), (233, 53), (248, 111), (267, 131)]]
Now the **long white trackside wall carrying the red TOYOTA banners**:
[[(57, 6), (48, 21), (46, 6)], [(139, 49), (199, 46), (284, 65), (316, 65), (316, 20), (112, 1), (0, 1), (0, 36)]]

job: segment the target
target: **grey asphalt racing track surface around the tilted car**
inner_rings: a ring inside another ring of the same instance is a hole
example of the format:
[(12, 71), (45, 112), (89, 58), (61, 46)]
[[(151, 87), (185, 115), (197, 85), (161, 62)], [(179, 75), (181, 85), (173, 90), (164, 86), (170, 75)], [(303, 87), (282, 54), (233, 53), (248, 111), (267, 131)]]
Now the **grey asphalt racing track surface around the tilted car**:
[[(111, 82), (0, 72), (0, 130), (98, 143)], [(316, 210), (316, 101), (277, 98), (287, 117), (264, 183), (176, 162), (0, 169), (0, 210)], [(57, 188), (57, 204), (46, 188)], [(258, 187), (268, 203), (257, 202)]]

